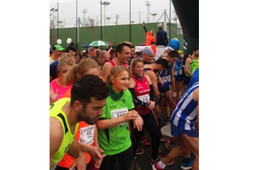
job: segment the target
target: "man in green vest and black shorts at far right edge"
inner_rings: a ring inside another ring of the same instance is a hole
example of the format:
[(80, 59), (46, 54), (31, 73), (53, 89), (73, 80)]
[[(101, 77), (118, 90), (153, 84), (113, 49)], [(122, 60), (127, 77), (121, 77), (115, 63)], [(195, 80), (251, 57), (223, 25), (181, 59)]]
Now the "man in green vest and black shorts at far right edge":
[(189, 85), (189, 81), (198, 67), (199, 67), (199, 47), (194, 47), (193, 54), (191, 55), (191, 57), (187, 58), (184, 66), (185, 78), (184, 78), (183, 85), (185, 88), (187, 88), (187, 85)]

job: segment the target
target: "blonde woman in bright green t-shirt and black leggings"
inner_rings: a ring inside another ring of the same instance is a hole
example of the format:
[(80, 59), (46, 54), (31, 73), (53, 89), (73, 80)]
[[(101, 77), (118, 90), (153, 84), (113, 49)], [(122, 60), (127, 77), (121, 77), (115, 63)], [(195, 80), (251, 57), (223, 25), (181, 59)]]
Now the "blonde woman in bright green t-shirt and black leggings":
[(122, 170), (135, 169), (135, 155), (129, 135), (129, 120), (138, 131), (143, 120), (135, 111), (132, 94), (128, 90), (129, 70), (124, 66), (114, 66), (105, 82), (110, 90), (103, 115), (97, 121), (99, 148), (104, 150), (100, 170), (114, 169), (116, 158)]

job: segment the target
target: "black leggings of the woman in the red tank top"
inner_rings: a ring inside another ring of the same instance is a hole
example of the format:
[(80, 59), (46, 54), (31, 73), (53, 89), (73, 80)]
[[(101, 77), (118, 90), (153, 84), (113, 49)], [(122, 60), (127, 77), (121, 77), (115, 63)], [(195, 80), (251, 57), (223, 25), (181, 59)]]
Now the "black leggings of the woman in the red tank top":
[[(146, 115), (140, 115), (143, 118), (143, 126), (147, 129), (148, 133), (151, 136), (151, 154), (152, 159), (157, 159), (159, 155), (159, 140), (161, 139), (161, 131), (157, 125), (157, 120), (154, 117), (152, 111), (148, 112)], [(133, 128), (133, 124), (131, 121), (131, 129), (133, 129), (135, 140), (132, 142), (133, 150), (136, 151), (138, 144), (140, 142), (141, 136), (143, 135), (143, 131), (138, 131), (137, 128)]]

